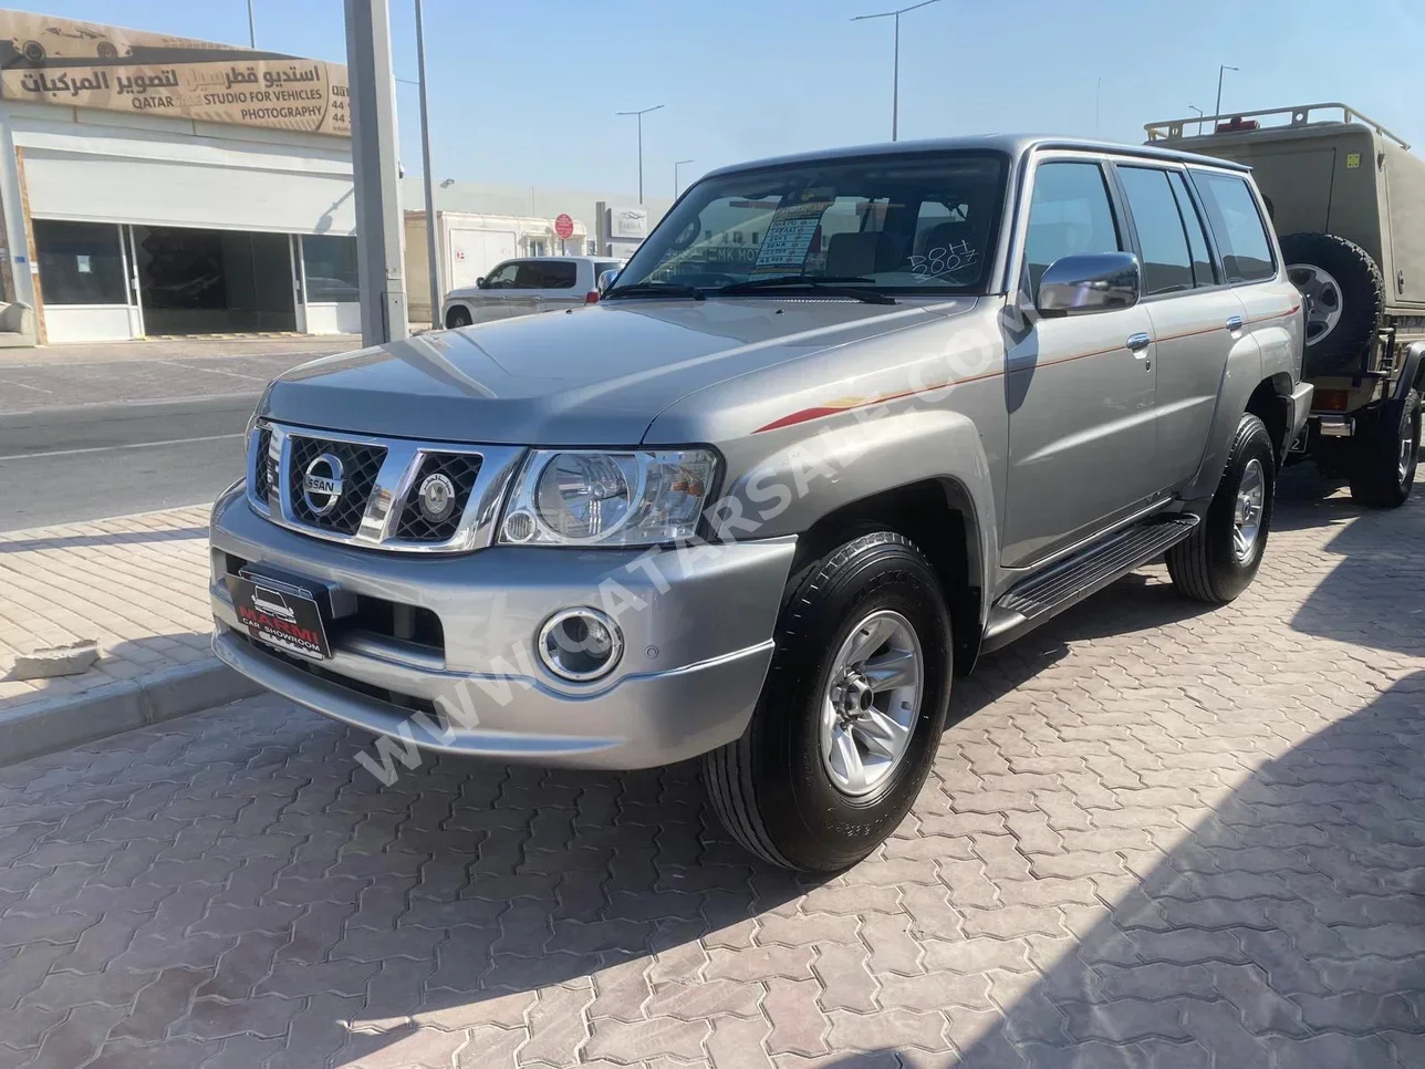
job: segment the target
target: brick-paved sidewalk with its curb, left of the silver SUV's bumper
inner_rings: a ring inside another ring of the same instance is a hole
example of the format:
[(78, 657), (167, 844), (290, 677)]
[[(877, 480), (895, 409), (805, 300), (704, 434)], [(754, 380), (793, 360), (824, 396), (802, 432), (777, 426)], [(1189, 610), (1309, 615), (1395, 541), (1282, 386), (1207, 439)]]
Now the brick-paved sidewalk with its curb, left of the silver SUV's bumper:
[[(207, 506), (0, 533), (0, 763), (251, 693), (211, 631)], [(84, 639), (103, 656), (83, 676), (13, 677)]]

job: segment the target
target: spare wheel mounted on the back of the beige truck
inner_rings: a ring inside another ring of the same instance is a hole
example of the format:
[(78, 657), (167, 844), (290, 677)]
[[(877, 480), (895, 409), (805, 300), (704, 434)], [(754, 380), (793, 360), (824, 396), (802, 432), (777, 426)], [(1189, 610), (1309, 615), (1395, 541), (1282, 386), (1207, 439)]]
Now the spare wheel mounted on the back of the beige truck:
[(1369, 252), (1335, 234), (1287, 234), (1281, 255), (1307, 308), (1304, 376), (1349, 375), (1385, 314), (1381, 268)]

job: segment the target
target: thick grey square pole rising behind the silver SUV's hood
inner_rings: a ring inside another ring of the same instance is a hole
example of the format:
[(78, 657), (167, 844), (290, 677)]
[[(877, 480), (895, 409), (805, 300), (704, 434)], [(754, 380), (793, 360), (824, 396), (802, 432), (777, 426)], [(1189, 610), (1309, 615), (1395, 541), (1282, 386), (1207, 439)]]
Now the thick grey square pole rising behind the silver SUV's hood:
[(345, 0), (362, 345), (410, 334), (402, 265), (396, 86), (386, 0)]

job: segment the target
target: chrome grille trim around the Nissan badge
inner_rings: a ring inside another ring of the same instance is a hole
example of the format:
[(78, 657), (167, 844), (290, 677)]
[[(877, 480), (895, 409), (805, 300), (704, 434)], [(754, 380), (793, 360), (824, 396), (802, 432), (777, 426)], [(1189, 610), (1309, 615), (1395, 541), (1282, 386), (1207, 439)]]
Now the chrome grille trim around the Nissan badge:
[[(256, 496), (258, 443), (269, 442), (276, 455), (276, 473), (269, 480), (268, 497)], [(383, 449), (385, 458), (376, 472), (376, 482), (366, 499), (361, 526), (355, 534), (316, 527), (302, 522), (292, 507), (292, 438), (319, 442), (342, 442), (368, 449)], [(484, 549), (494, 540), (494, 525), (504, 502), (510, 480), (527, 450), (523, 446), (463, 445), (455, 442), (426, 442), (408, 438), (349, 435), (289, 423), (261, 420), (248, 440), (248, 503), (262, 516), (289, 530), (345, 546), (380, 549), (398, 553), (469, 553)], [(412, 493), (420, 466), (430, 453), (459, 453), (479, 458), (479, 473), (469, 500), (456, 525), (455, 534), (445, 542), (416, 542), (396, 536), (406, 499)]]

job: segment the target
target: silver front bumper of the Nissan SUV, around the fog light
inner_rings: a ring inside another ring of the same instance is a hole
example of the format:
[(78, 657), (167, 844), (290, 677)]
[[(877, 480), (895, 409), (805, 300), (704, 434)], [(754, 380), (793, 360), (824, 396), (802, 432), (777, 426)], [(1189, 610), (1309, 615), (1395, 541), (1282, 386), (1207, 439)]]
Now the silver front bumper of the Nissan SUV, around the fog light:
[[(212, 513), (214, 651), (335, 720), (447, 753), (549, 765), (646, 768), (742, 734), (772, 656), (795, 539), (690, 550), (502, 546), (412, 559), (309, 539), (258, 516), (241, 487)], [(229, 559), (435, 613), (443, 650), (363, 631), (332, 639), (322, 674), (238, 624)], [(534, 654), (560, 609), (608, 607), (624, 631), (606, 678), (566, 683)], [(385, 694), (390, 700), (378, 697)], [(433, 714), (413, 708), (433, 706)]]

